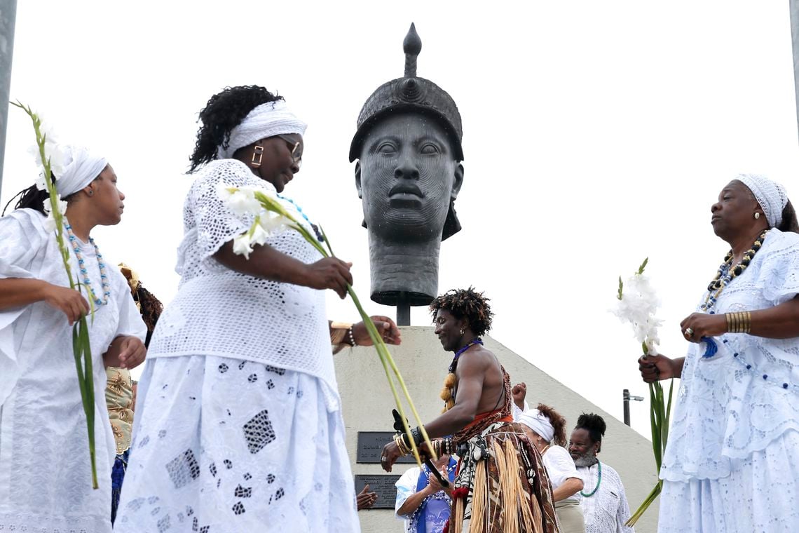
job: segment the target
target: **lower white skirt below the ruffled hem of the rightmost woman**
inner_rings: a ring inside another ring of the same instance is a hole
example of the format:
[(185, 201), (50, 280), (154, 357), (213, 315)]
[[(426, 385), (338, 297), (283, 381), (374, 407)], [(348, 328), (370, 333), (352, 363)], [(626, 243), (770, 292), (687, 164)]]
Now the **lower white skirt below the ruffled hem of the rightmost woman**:
[(733, 459), (725, 478), (664, 481), (660, 497), (660, 533), (799, 531), (799, 432)]

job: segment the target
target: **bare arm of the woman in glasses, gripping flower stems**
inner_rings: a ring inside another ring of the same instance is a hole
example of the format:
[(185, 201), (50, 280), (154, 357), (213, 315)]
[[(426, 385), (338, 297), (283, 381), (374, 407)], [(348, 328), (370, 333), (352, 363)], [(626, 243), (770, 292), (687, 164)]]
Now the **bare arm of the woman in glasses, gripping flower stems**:
[(342, 299), (347, 296), (347, 285), (352, 285), (349, 271), (352, 263), (345, 263), (336, 257), (325, 257), (306, 265), (269, 245), (256, 245), (247, 259), (233, 253), (233, 241), (222, 245), (213, 257), (236, 272), (303, 287), (331, 288)]

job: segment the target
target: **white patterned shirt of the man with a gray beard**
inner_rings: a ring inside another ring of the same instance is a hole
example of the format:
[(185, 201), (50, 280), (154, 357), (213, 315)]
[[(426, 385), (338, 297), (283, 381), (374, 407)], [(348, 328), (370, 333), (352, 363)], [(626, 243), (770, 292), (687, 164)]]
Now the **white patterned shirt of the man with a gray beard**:
[(602, 481), (599, 480), (599, 463), (590, 467), (577, 467), (582, 478), (583, 496), (577, 493), (586, 519), (586, 533), (634, 533), (624, 523), (630, 519), (630, 505), (624, 492), (622, 478), (607, 463), (602, 463)]

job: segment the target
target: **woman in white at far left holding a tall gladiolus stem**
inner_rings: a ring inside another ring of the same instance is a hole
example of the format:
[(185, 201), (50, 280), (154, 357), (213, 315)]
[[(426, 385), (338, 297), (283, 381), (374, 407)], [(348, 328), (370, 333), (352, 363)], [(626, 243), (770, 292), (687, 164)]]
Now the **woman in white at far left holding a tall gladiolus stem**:
[(70, 288), (54, 231), (47, 228), (42, 201), (50, 202), (49, 196), (32, 186), (22, 193), (18, 209), (0, 218), (4, 532), (110, 533), (116, 447), (105, 408), (104, 364), (133, 368), (145, 356), (146, 328), (128, 283), (89, 237), (94, 226), (121, 220), (125, 196), (105, 158), (77, 147), (65, 149), (68, 164), (56, 176), (56, 188), (66, 199), (66, 218), (78, 248), (70, 250), (70, 264), (73, 275), (89, 280), (95, 309), (88, 324), (99, 487), (92, 489), (86, 416), (72, 350), (71, 324), (89, 312), (89, 303)]

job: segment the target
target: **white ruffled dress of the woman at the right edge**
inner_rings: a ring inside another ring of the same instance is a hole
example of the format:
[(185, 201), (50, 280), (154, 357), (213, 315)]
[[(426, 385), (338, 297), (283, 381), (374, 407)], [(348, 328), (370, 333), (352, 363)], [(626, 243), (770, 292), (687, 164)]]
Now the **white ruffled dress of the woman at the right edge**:
[[(799, 235), (772, 229), (715, 311), (755, 311), (799, 294)], [(705, 297), (702, 297), (704, 302)], [(799, 339), (690, 344), (669, 444), (658, 531), (799, 531)]]

